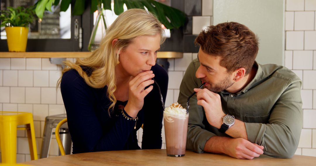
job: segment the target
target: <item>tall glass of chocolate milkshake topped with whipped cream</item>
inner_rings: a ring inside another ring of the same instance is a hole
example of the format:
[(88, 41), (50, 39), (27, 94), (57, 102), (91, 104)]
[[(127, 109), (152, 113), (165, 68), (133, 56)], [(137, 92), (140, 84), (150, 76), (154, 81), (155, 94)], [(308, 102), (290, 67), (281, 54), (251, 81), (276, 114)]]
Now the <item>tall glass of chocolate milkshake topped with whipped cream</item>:
[(189, 114), (176, 102), (164, 110), (163, 119), (167, 155), (173, 157), (184, 156)]

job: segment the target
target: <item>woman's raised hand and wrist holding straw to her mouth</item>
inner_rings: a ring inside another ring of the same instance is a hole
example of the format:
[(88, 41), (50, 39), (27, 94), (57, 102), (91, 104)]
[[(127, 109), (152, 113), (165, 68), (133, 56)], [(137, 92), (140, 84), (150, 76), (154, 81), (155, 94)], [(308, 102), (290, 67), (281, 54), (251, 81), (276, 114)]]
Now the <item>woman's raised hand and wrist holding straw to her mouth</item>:
[[(145, 96), (153, 90), (153, 86), (151, 84), (154, 83), (154, 80), (151, 79), (154, 77), (155, 74), (153, 74), (153, 71), (149, 70), (138, 74), (130, 81), (128, 102), (124, 109), (132, 118), (137, 116), (137, 113), (143, 108)], [(149, 87), (145, 89), (146, 86)]]

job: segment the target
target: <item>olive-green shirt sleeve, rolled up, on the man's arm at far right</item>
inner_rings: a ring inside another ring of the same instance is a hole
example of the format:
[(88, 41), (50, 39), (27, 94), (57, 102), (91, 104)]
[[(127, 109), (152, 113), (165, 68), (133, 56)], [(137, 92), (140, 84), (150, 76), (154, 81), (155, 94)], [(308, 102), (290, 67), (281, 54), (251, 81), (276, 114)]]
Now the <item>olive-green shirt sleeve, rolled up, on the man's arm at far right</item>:
[(248, 140), (264, 146), (264, 154), (292, 158), (301, 136), (303, 111), (301, 80), (289, 80), (275, 105), (268, 124), (245, 123)]

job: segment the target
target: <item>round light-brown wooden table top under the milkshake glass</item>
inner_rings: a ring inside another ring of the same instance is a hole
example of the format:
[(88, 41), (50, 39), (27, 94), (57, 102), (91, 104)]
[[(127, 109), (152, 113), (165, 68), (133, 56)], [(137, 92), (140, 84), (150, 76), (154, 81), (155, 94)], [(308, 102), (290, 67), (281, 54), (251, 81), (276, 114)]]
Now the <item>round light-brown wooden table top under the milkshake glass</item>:
[(169, 157), (166, 149), (107, 151), (70, 154), (25, 162), (29, 165), (314, 165), (316, 157), (295, 155), (293, 158), (260, 156), (252, 160), (226, 155), (186, 151), (184, 157)]

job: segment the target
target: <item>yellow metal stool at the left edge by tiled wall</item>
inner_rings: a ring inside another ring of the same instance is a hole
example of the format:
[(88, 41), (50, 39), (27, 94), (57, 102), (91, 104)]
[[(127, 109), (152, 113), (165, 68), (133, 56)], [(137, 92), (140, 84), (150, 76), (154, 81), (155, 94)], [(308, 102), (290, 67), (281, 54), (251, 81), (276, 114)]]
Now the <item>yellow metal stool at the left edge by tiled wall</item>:
[[(26, 124), (26, 127), (17, 127)], [(16, 132), (27, 130), (31, 160), (37, 160), (32, 113), (0, 111), (0, 147), (2, 163), (16, 163)]]

